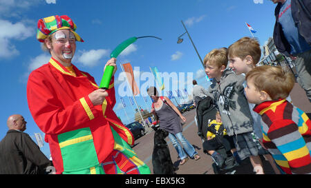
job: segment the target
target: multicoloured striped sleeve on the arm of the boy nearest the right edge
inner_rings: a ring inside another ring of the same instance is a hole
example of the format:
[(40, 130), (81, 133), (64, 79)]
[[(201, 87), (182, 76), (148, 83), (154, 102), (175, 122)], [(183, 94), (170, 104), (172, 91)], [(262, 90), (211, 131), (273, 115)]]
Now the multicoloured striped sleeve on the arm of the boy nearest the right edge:
[[(301, 128), (308, 132), (308, 126), (303, 125)], [(288, 160), (292, 172), (304, 174), (303, 171), (307, 170), (306, 167), (311, 164), (311, 156), (305, 140), (299, 132), (298, 125), (288, 119), (274, 121), (267, 132), (267, 136)], [(310, 173), (310, 168), (308, 173)]]

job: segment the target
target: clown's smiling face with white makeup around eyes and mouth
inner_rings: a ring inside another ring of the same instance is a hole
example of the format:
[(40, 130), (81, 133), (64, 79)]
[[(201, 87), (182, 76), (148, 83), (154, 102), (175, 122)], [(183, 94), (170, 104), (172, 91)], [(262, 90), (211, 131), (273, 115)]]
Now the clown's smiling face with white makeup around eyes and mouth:
[(71, 59), (75, 54), (75, 35), (70, 30), (58, 30), (52, 37), (50, 52), (59, 63), (65, 66), (71, 65)]

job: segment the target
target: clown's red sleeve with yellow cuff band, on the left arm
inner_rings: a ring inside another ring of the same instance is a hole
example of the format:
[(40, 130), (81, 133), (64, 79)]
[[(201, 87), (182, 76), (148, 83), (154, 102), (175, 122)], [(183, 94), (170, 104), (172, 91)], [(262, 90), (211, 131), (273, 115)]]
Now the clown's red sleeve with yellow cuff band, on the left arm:
[[(56, 95), (53, 83), (42, 72), (34, 71), (27, 83), (27, 101), (30, 113), (42, 132), (61, 134), (99, 116), (88, 96), (79, 98), (72, 105), (64, 107)], [(87, 113), (86, 113), (87, 109)]]

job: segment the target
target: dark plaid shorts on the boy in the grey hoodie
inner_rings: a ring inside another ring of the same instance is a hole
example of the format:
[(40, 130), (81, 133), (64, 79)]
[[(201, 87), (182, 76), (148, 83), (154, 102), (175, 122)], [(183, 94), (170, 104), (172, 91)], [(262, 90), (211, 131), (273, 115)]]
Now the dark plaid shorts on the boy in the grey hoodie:
[(232, 137), (234, 138), (234, 145), (236, 145), (236, 150), (241, 160), (249, 156), (269, 154), (269, 152), (261, 146), (254, 132), (245, 132)]

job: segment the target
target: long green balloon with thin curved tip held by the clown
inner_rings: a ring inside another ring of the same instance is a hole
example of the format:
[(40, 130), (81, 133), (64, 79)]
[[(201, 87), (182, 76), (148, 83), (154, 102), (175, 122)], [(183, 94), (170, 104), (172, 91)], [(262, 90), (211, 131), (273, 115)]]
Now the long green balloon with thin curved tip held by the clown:
[[(131, 43), (134, 43), (135, 41), (137, 41), (137, 39), (140, 38), (144, 38), (144, 37), (154, 37), (156, 39), (160, 39), (156, 36), (140, 36), (140, 37), (131, 37), (125, 41), (123, 41), (122, 43), (120, 43), (119, 45), (117, 45), (117, 48), (115, 48), (115, 50), (113, 50), (110, 54), (111, 58), (117, 58), (117, 56), (125, 49), (127, 48), (129, 45), (131, 45)], [(160, 39), (161, 40), (161, 39)], [(100, 82), (100, 88), (107, 90), (109, 88), (109, 83), (111, 81), (111, 77), (113, 74), (113, 70), (114, 67), (111, 65), (106, 66), (106, 69), (104, 70), (104, 74), (102, 75), (102, 81)]]

